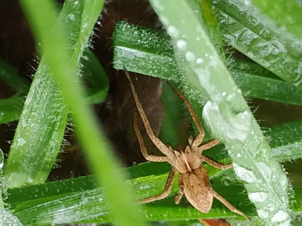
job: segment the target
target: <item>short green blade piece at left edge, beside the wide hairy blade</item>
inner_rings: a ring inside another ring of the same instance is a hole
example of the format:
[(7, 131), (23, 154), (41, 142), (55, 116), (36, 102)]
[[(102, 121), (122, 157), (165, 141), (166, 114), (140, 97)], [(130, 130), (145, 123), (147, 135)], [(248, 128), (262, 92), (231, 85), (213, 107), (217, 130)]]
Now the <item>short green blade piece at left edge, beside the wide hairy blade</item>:
[(12, 96), (0, 100), (0, 124), (18, 120), (21, 115), (25, 97)]

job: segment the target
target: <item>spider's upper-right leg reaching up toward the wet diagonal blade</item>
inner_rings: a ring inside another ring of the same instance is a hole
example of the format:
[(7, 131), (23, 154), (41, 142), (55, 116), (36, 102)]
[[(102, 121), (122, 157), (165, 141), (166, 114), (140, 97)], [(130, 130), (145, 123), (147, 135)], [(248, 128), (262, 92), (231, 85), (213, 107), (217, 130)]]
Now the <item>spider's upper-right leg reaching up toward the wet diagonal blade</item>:
[(177, 89), (175, 89), (173, 86), (171, 86), (170, 83), (168, 83), (168, 85), (185, 102), (185, 105), (187, 106), (188, 111), (189, 111), (193, 121), (195, 122), (196, 127), (198, 128), (199, 133), (197, 134), (196, 138), (194, 139), (194, 141), (191, 145), (192, 150), (195, 150), (200, 145), (201, 141), (204, 139), (204, 127), (202, 126), (201, 122), (199, 121), (189, 100), (182, 93), (180, 93)]

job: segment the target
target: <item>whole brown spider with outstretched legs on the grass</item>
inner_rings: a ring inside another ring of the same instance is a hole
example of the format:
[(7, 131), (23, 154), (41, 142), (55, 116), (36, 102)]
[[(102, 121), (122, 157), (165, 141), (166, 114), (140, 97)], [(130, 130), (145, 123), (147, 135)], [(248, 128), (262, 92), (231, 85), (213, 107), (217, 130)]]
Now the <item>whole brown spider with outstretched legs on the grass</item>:
[(204, 129), (202, 127), (201, 122), (198, 120), (196, 113), (194, 112), (190, 102), (188, 99), (176, 89), (174, 89), (171, 85), (170, 87), (175, 91), (175, 93), (182, 98), (187, 106), (193, 121), (195, 122), (199, 133), (195, 139), (192, 136), (189, 137), (188, 143), (189, 145), (180, 151), (173, 150), (171, 146), (166, 146), (162, 143), (159, 138), (155, 137), (153, 130), (149, 124), (148, 118), (143, 110), (143, 107), (138, 99), (137, 93), (134, 89), (133, 82), (130, 78), (130, 75), (127, 71), (125, 74), (130, 82), (131, 90), (133, 93), (133, 97), (135, 100), (135, 104), (140, 113), (140, 117), (143, 120), (143, 124), (146, 127), (146, 132), (155, 146), (165, 155), (148, 155), (146, 146), (143, 141), (143, 137), (140, 133), (137, 124), (137, 112), (134, 114), (134, 123), (133, 127), (135, 133), (137, 135), (137, 139), (140, 143), (140, 150), (145, 157), (146, 160), (152, 162), (169, 162), (173, 168), (169, 173), (165, 188), (162, 194), (152, 196), (146, 199), (140, 200), (141, 203), (153, 202), (159, 199), (164, 199), (167, 197), (171, 191), (173, 180), (175, 177), (175, 173), (178, 174), (178, 183), (179, 183), (179, 193), (175, 196), (175, 204), (178, 204), (185, 194), (188, 201), (194, 206), (196, 209), (203, 213), (207, 213), (210, 211), (213, 202), (213, 196), (222, 202), (230, 211), (237, 213), (239, 215), (244, 216), (246, 219), (249, 219), (243, 212), (236, 209), (232, 204), (230, 204), (226, 199), (221, 197), (216, 191), (213, 190), (210, 184), (209, 176), (206, 168), (201, 164), (201, 162), (207, 162), (209, 165), (214, 166), (218, 169), (228, 169), (233, 167), (233, 164), (230, 163), (228, 165), (223, 165), (220, 162), (216, 162), (214, 159), (210, 157), (201, 155), (203, 150), (209, 149), (219, 143), (217, 140), (210, 140), (204, 144), (201, 144), (204, 139)]

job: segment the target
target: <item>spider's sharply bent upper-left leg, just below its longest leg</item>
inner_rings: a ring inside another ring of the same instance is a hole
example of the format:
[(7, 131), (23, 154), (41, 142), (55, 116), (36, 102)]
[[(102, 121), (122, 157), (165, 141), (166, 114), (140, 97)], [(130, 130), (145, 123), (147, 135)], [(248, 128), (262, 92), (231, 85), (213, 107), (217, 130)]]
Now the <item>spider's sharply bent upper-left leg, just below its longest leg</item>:
[(148, 155), (147, 149), (142, 137), (142, 134), (140, 133), (140, 129), (138, 128), (137, 124), (137, 112), (134, 112), (134, 121), (133, 121), (133, 127), (138, 139), (138, 142), (140, 143), (140, 151), (142, 152), (143, 156), (146, 160), (152, 161), (152, 162), (168, 162), (167, 156), (159, 156), (159, 155)]

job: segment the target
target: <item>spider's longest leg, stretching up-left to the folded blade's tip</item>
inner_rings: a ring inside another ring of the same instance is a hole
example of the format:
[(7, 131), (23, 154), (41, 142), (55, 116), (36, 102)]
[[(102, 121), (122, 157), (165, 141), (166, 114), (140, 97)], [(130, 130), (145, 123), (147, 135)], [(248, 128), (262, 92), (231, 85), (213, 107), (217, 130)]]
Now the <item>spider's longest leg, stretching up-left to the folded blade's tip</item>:
[(130, 75), (127, 71), (125, 71), (125, 74), (130, 82), (130, 86), (131, 86), (131, 90), (132, 90), (132, 94), (133, 94), (133, 98), (134, 98), (134, 101), (135, 101), (135, 104), (137, 106), (137, 110), (138, 112), (140, 113), (140, 117), (142, 118), (143, 120), (143, 123), (146, 127), (146, 132), (148, 134), (148, 136), (150, 137), (150, 139), (152, 140), (152, 142), (155, 144), (155, 146), (164, 154), (164, 155), (167, 155), (168, 157), (170, 157), (171, 159), (174, 158), (174, 154), (173, 152), (170, 151), (170, 149), (165, 146), (164, 143), (162, 143), (161, 140), (159, 140), (159, 138), (157, 138), (154, 133), (153, 133), (153, 130), (150, 126), (150, 123), (149, 123), (149, 120), (146, 116), (146, 113), (143, 109), (143, 106), (142, 104), (140, 103), (140, 100), (138, 99), (138, 96), (137, 96), (137, 93), (135, 91), (135, 88), (134, 88), (134, 84), (130, 78)]

